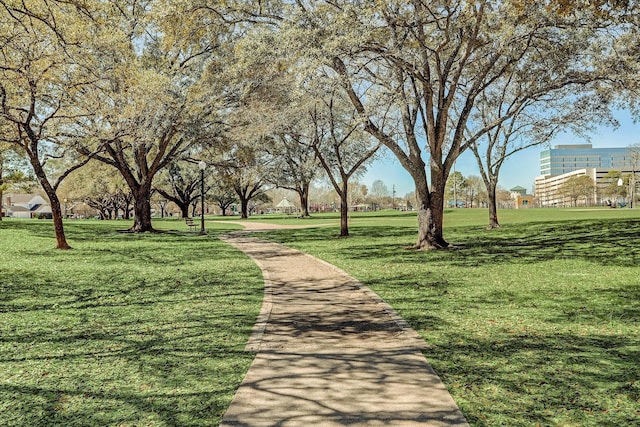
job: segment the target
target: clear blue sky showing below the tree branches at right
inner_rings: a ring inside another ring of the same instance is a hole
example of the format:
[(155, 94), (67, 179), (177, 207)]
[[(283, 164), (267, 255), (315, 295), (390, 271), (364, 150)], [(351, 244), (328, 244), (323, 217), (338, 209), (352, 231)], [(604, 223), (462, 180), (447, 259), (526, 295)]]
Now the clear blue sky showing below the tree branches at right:
[[(604, 148), (627, 147), (640, 143), (640, 123), (633, 123), (631, 115), (625, 111), (617, 112), (615, 118), (619, 121), (620, 127), (601, 127), (591, 135), (590, 141), (567, 133), (558, 135), (550, 145), (591, 143), (594, 148)], [(499, 185), (507, 190), (521, 186), (529, 193), (533, 192), (535, 178), (540, 175), (540, 151), (545, 148), (546, 146), (532, 147), (509, 157), (500, 171)], [(463, 153), (458, 158), (456, 170), (463, 176), (480, 175), (476, 159), (471, 152)], [(377, 179), (382, 180), (389, 191), (395, 186), (396, 197), (402, 197), (415, 189), (409, 174), (389, 152), (369, 166), (360, 181), (371, 188), (371, 184)]]

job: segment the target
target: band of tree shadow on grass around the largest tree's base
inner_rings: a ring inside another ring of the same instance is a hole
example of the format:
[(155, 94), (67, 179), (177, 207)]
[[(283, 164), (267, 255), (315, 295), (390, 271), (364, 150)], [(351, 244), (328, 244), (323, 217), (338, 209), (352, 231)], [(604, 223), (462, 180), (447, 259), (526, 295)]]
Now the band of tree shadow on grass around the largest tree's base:
[[(407, 227), (354, 227), (354, 237), (336, 245), (344, 259), (376, 258), (380, 262), (445, 262), (454, 266), (527, 264), (561, 258), (601, 265), (640, 264), (640, 225), (634, 220), (580, 220), (527, 223), (498, 230), (459, 227), (450, 230), (452, 247), (441, 251), (409, 249), (415, 230)], [(274, 233), (283, 244), (326, 240), (327, 230)], [(404, 250), (402, 250), (404, 249)], [(412, 254), (413, 252), (413, 254)]]

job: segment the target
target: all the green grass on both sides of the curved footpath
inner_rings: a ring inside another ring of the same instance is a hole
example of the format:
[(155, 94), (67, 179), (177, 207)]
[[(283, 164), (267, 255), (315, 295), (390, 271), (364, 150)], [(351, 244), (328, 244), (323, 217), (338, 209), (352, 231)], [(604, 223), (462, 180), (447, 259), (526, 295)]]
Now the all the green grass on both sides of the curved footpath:
[[(251, 221), (349, 271), (425, 338), (473, 426), (640, 424), (640, 211), (449, 210), (455, 249), (417, 252), (412, 213)], [(215, 218), (221, 219), (221, 218)], [(238, 220), (238, 217), (228, 218)], [(258, 268), (180, 220), (0, 223), (0, 425), (216, 425), (252, 355)]]

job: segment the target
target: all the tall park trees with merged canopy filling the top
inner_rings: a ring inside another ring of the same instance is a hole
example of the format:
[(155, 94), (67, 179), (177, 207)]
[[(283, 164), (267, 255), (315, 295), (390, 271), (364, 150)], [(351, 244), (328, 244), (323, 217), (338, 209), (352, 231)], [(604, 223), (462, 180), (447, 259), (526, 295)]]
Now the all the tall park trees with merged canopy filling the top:
[(58, 192), (96, 162), (122, 179), (131, 230), (144, 232), (162, 176), (179, 170), (186, 182), (201, 161), (243, 215), (269, 185), (295, 191), (306, 213), (319, 175), (346, 206), (350, 180), (382, 147), (414, 181), (416, 248), (446, 248), (446, 185), (461, 153), (478, 161), (497, 227), (506, 158), (633, 106), (635, 9), (0, 0), (0, 142), (28, 159), (50, 199), (58, 248), (69, 247)]

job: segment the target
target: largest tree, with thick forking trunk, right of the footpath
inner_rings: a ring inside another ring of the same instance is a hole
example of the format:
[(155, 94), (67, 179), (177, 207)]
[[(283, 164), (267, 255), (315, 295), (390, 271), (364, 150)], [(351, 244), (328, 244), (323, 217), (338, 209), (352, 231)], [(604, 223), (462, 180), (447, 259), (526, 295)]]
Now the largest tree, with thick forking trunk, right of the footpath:
[[(442, 230), (445, 184), (471, 143), (465, 131), (477, 98), (530, 58), (541, 66), (523, 82), (520, 102), (591, 79), (596, 60), (611, 46), (594, 25), (600, 15), (560, 15), (538, 2), (296, 4), (294, 17), (283, 24), (290, 45), (337, 76), (366, 131), (413, 178), (416, 247), (423, 249), (448, 246)], [(493, 127), (479, 129), (476, 137)]]

